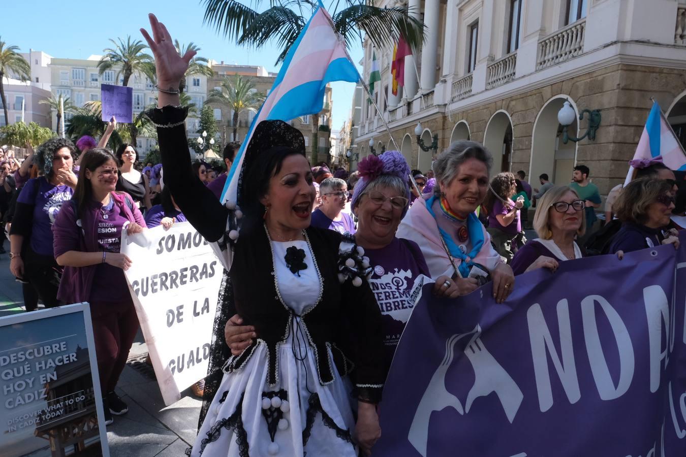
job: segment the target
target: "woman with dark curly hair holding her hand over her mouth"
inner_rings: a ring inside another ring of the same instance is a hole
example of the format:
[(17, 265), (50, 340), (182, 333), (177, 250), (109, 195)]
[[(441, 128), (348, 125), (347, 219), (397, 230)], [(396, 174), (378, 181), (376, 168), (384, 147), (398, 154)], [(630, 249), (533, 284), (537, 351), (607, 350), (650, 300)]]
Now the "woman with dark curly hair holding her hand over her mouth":
[(36, 149), (34, 160), (44, 173), (28, 180), (16, 200), (10, 227), (10, 271), (34, 288), (46, 307), (58, 306), (62, 268), (53, 253), (51, 227), (77, 177), (76, 148), (66, 138), (51, 138)]

